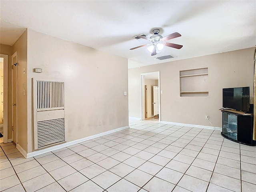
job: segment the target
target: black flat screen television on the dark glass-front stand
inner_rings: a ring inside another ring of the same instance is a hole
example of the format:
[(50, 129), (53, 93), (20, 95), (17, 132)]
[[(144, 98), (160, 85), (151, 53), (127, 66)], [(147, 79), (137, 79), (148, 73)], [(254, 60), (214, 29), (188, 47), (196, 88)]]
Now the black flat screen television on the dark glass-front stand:
[(224, 108), (249, 111), (250, 87), (224, 88), (222, 96)]

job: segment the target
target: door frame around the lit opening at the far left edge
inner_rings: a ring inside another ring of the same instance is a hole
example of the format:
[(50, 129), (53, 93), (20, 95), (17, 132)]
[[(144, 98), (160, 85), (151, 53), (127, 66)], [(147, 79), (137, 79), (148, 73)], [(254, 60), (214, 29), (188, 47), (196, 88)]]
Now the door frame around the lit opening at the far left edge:
[(4, 143), (8, 142), (8, 55), (0, 54), (4, 58)]

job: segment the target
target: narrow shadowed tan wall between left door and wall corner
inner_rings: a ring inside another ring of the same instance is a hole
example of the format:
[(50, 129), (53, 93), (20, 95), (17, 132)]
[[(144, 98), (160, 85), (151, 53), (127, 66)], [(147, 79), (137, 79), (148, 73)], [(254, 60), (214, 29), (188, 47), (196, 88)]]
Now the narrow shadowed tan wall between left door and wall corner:
[[(27, 126), (27, 38), (28, 31), (26, 30), (13, 45), (13, 52), (17, 52), (17, 128), (18, 140), (17, 143), (27, 151), (28, 126)], [(25, 68), (25, 74), (23, 70)], [(25, 95), (23, 91), (25, 90)]]

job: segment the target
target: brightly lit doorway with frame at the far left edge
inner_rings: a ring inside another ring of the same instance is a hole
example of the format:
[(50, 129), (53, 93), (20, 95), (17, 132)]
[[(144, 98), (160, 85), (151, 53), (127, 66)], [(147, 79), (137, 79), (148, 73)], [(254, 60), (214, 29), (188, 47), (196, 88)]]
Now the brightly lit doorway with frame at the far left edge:
[(0, 54), (0, 143), (8, 142), (8, 55)]

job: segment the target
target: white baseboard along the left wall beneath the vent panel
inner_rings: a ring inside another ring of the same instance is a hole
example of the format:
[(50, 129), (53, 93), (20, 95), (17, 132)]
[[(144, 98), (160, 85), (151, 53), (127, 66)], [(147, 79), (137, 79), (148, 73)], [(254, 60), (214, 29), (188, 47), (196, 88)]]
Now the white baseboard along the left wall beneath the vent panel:
[(37, 156), (37, 155), (48, 153), (48, 152), (51, 152), (51, 151), (54, 151), (54, 150), (58, 150), (60, 148), (68, 147), (70, 145), (74, 145), (74, 144), (84, 142), (84, 141), (87, 141), (87, 140), (90, 140), (90, 139), (101, 137), (101, 136), (104, 136), (104, 135), (107, 135), (107, 134), (110, 134), (110, 133), (114, 133), (114, 132), (117, 132), (117, 131), (120, 131), (120, 130), (124, 130), (124, 129), (127, 129), (127, 128), (129, 128), (129, 126), (120, 127), (120, 128), (114, 129), (114, 130), (106, 131), (106, 132), (99, 133), (99, 134), (92, 135), (92, 136), (88, 136), (88, 137), (85, 137), (85, 138), (82, 138), (82, 139), (78, 139), (78, 140), (70, 141), (70, 142), (67, 142), (67, 143), (63, 143), (63, 144), (60, 144), (60, 145), (52, 146), (52, 147), (49, 147), (49, 148), (46, 148), (46, 149), (33, 151), (33, 152), (30, 152), (30, 153), (26, 154), (26, 156), (24, 156), (24, 157), (25, 158), (34, 157), (34, 156)]

